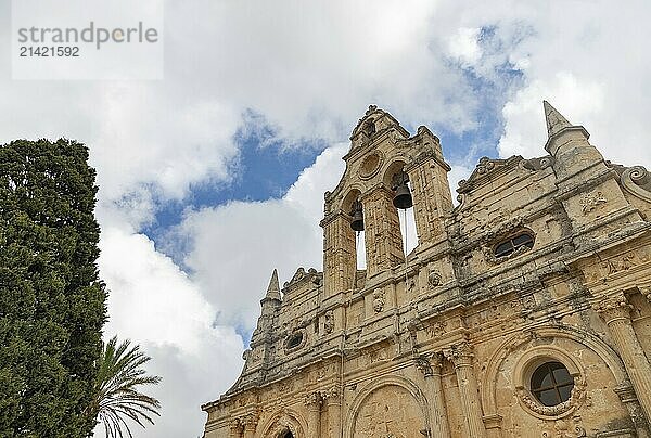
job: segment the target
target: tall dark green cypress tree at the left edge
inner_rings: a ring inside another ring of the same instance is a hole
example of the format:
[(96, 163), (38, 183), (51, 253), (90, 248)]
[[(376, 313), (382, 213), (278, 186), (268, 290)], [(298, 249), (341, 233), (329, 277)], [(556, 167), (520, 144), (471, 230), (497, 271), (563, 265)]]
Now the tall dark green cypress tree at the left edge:
[(0, 437), (86, 437), (105, 321), (85, 145), (0, 145)]

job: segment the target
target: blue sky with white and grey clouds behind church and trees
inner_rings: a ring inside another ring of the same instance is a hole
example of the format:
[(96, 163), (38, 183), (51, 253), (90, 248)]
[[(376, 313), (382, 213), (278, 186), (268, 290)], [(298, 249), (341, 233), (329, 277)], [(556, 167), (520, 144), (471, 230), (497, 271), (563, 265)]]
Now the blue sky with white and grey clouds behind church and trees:
[(13, 80), (10, 8), (0, 142), (91, 150), (105, 336), (163, 376), (162, 417), (137, 437), (200, 436), (272, 269), (321, 269), (322, 193), (369, 104), (429, 126), (450, 181), (484, 155), (544, 155), (542, 99), (608, 159), (651, 167), (648, 0), (170, 0), (164, 79), (123, 81)]

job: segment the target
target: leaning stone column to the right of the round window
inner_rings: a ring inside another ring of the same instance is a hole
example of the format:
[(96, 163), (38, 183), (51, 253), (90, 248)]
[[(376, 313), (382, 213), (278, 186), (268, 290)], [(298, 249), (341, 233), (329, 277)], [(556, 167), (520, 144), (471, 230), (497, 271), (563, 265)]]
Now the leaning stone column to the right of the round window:
[(623, 293), (603, 299), (596, 306), (597, 312), (608, 326), (617, 352), (622, 357), (628, 378), (642, 412), (651, 418), (651, 364), (642, 350), (630, 321), (631, 306)]

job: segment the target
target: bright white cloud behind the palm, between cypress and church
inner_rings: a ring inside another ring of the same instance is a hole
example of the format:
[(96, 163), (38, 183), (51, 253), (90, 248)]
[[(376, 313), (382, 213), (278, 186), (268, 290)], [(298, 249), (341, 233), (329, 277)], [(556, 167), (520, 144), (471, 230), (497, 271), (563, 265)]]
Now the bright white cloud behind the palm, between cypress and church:
[[(104, 337), (117, 334), (139, 344), (153, 358), (148, 372), (163, 377), (158, 387), (144, 388), (159, 399), (162, 416), (155, 426), (132, 430), (138, 437), (200, 436), (205, 421), (200, 404), (237, 378), (242, 338), (215, 324), (215, 308), (146, 236), (105, 228), (100, 247), (110, 289)], [(97, 435), (103, 436), (102, 426)]]

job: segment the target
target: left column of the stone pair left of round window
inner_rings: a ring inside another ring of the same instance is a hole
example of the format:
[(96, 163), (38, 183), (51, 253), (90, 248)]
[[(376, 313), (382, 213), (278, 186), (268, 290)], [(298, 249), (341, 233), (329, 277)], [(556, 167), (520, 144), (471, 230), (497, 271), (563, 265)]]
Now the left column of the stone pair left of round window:
[(425, 376), (425, 391), (430, 399), (430, 421), (432, 425), (432, 437), (449, 438), (450, 427), (448, 424), (447, 409), (443, 396), (443, 383), (441, 381), (441, 368), (443, 355), (436, 352), (430, 359), (420, 358), (418, 368)]

